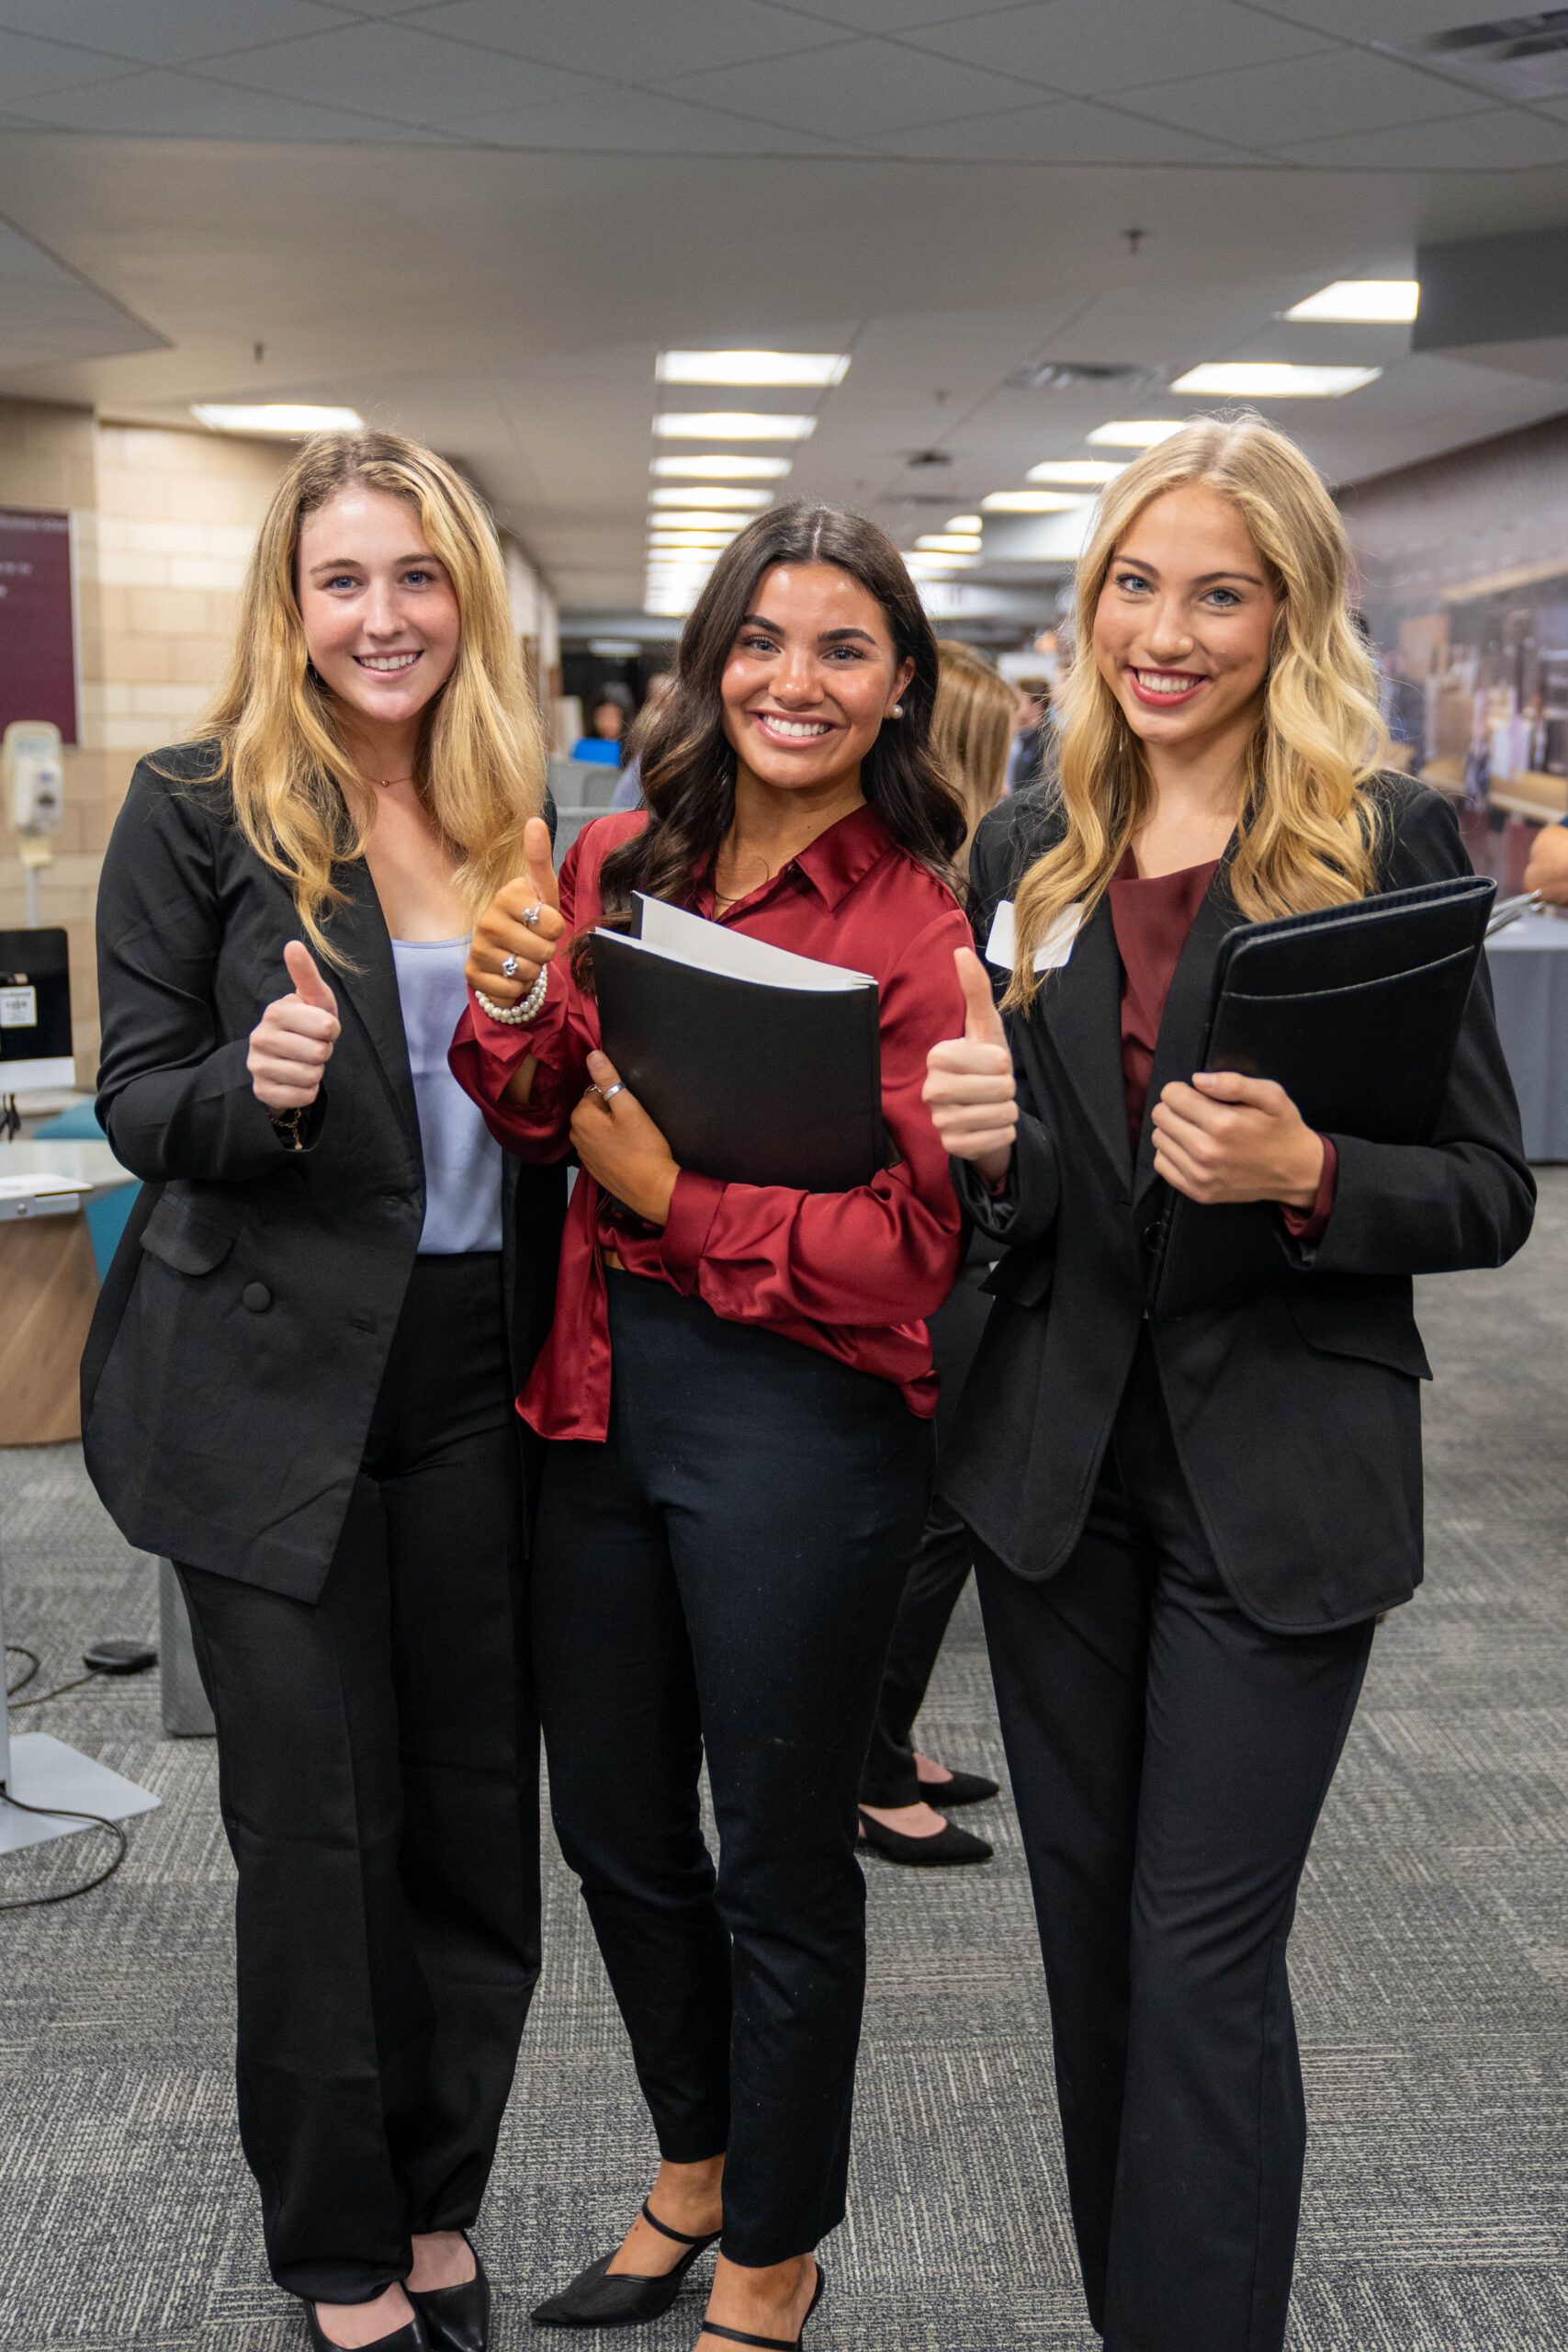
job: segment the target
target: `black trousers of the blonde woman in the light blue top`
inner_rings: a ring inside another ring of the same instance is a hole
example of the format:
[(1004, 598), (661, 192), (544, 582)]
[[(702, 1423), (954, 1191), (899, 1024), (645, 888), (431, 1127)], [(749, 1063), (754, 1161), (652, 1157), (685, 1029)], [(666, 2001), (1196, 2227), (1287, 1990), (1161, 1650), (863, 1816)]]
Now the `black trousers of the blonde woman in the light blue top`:
[(418, 1258), (320, 1602), (181, 1569), (240, 1870), (240, 2138), (280, 2286), (475, 2220), (538, 1978), (501, 1258)]

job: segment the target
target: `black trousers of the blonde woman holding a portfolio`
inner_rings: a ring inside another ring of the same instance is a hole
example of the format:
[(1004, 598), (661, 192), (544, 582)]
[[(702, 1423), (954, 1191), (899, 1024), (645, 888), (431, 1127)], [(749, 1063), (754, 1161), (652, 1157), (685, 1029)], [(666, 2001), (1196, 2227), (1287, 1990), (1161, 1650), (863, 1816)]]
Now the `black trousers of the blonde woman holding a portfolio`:
[(1286, 1940), (1373, 1623), (1253, 1625), (1140, 1348), (1046, 1583), (976, 1543), (1046, 1959), (1088, 2314), (1107, 2352), (1279, 2352), (1307, 2119)]

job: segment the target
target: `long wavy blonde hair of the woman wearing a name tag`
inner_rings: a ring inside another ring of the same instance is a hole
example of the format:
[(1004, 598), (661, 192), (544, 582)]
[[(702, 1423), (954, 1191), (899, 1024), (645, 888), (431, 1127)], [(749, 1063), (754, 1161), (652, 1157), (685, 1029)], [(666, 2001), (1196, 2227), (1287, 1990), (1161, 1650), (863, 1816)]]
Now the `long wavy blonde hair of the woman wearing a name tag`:
[(1279, 593), (1262, 713), (1246, 753), (1229, 891), (1248, 922), (1366, 898), (1375, 889), (1387, 750), (1375, 673), (1347, 604), (1349, 546), (1333, 499), (1293, 440), (1260, 416), (1197, 416), (1100, 494), (1077, 567), (1077, 652), (1060, 689), (1063, 840), (1030, 866), (1013, 908), (1006, 1004), (1034, 1000), (1034, 950), (1056, 915), (1088, 917), (1154, 804), (1143, 746), (1095, 661), (1112, 560), (1152, 499), (1201, 482), (1239, 510)]

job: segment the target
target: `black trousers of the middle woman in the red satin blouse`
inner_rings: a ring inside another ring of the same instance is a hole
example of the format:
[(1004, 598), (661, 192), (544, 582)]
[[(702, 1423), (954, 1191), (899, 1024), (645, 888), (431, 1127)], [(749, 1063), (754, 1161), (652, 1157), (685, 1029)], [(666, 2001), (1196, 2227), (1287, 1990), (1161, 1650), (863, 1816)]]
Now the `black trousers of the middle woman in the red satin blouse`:
[(856, 1788), (931, 1430), (886, 1381), (607, 1282), (609, 1437), (550, 1446), (534, 1555), (550, 1802), (661, 2154), (726, 2152), (724, 2253), (783, 2263), (844, 2218)]

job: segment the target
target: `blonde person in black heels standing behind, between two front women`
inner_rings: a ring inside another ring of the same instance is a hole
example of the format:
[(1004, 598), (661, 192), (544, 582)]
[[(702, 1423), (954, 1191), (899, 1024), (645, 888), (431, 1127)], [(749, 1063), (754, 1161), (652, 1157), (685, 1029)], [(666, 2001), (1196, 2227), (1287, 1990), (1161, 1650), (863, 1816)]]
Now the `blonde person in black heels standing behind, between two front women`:
[[(1013, 741), (1013, 689), (971, 644), (940, 637), (931, 748), (947, 783), (964, 802), (969, 842), (987, 809), (1001, 800)], [(973, 1364), (990, 1301), (983, 1296), (994, 1249), (973, 1240), (959, 1279), (931, 1317), (931, 1350), (943, 1392), (936, 1406), (938, 1458)], [(893, 1646), (882, 1675), (877, 1729), (860, 1773), (860, 1837), (889, 1863), (987, 1863), (983, 1837), (943, 1820), (938, 1806), (983, 1804), (997, 1783), (983, 1773), (950, 1771), (914, 1748), (914, 1717), (931, 1682), (947, 1621), (969, 1578), (969, 1529), (952, 1503), (931, 1503), (919, 1550), (898, 1604)]]

